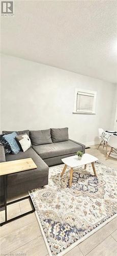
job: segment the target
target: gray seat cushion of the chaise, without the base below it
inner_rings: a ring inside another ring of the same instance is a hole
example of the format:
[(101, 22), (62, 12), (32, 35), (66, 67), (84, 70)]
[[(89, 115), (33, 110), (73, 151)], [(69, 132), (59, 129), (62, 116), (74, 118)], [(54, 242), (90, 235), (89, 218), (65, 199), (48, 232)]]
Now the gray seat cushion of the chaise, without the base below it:
[(8, 175), (8, 185), (23, 183), (24, 181), (28, 182), (31, 180), (39, 179), (40, 177), (48, 176), (48, 165), (41, 159), (41, 157), (36, 154), (33, 148), (29, 148), (25, 152), (19, 152), (17, 155), (8, 154), (6, 155), (6, 161), (32, 158), (37, 165), (36, 169), (25, 170), (21, 173), (10, 174)]

